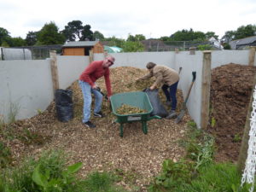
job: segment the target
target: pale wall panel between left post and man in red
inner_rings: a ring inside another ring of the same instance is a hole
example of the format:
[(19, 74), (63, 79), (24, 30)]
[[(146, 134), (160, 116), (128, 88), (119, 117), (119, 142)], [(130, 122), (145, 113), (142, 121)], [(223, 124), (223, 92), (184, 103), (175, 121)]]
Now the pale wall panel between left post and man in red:
[(60, 89), (66, 90), (89, 64), (89, 56), (57, 56)]

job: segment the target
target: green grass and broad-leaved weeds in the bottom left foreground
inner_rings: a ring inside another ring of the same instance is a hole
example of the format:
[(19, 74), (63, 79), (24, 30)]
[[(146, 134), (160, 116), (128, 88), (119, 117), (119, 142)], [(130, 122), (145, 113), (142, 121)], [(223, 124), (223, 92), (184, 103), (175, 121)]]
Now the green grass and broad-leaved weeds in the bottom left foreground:
[(76, 177), (82, 163), (67, 166), (67, 154), (46, 151), (38, 160), (27, 159), (20, 166), (6, 168), (0, 175), (0, 192), (121, 192), (115, 177), (95, 172), (87, 179)]

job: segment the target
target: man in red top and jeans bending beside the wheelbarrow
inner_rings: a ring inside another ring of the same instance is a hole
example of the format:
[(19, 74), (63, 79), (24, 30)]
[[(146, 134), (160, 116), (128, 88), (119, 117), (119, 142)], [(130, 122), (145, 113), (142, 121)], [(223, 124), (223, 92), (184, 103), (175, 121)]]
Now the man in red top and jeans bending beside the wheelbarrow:
[(103, 96), (100, 91), (96, 90), (96, 80), (104, 76), (109, 98), (112, 95), (109, 67), (113, 65), (113, 62), (113, 56), (108, 56), (103, 61), (92, 61), (79, 77), (79, 85), (84, 96), (84, 118), (82, 121), (84, 125), (90, 128), (96, 127), (96, 125), (90, 121), (91, 93), (95, 96), (94, 116), (102, 118), (104, 116), (101, 110)]

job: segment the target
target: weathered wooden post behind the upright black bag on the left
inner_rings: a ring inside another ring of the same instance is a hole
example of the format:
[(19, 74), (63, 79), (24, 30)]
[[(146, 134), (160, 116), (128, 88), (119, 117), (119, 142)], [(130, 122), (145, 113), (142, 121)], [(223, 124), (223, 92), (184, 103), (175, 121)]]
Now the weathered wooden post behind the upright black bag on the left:
[(56, 59), (56, 51), (50, 50), (49, 51), (50, 57), (50, 68), (51, 68), (51, 77), (53, 83), (53, 90), (59, 89), (59, 75), (58, 75), (58, 67), (57, 67), (57, 59)]

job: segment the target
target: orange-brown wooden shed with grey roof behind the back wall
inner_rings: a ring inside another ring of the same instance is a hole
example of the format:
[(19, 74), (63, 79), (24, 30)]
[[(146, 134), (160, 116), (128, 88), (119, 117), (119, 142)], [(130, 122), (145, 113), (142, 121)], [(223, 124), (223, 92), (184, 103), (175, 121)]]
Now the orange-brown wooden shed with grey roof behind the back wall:
[(104, 47), (99, 41), (71, 41), (62, 46), (62, 55), (90, 55), (104, 53)]

